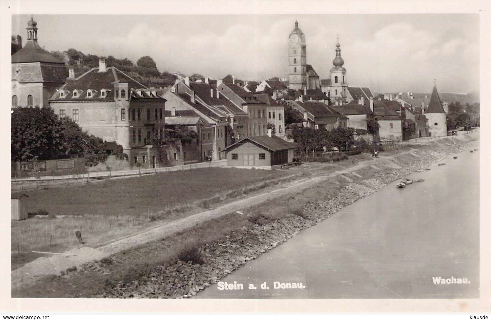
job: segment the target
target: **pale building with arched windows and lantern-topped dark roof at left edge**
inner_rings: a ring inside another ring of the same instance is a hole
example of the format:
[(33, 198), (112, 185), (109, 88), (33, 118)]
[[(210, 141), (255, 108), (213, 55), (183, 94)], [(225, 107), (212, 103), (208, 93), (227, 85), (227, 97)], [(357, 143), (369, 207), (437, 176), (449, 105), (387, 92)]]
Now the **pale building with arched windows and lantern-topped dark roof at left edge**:
[(26, 45), (22, 47), (20, 39), (22, 49), (12, 55), (12, 108), (49, 106), (50, 97), (68, 77), (65, 63), (42, 49), (37, 36), (37, 23), (31, 17)]

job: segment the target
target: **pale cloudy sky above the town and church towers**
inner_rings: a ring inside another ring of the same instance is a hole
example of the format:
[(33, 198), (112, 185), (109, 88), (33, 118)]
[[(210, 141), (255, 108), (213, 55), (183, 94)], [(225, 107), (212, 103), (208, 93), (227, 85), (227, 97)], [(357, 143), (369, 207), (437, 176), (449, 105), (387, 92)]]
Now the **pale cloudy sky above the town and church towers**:
[[(12, 16), (26, 42), (30, 15)], [(163, 72), (243, 80), (288, 77), (288, 36), (305, 34), (307, 63), (329, 77), (339, 35), (347, 81), (375, 92), (479, 90), (476, 14), (34, 15), (38, 42), (52, 50), (151, 56)]]

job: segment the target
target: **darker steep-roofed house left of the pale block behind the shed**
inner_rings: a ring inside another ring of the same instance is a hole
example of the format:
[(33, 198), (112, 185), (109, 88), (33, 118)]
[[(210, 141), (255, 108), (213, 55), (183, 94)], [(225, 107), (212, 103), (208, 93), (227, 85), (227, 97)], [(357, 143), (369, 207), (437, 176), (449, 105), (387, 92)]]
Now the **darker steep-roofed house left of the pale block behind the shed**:
[[(217, 83), (218, 84), (218, 83)], [(259, 100), (252, 93), (247, 92), (237, 84), (220, 83), (217, 87), (218, 95), (222, 95), (247, 115), (246, 136), (267, 135), (266, 107), (267, 104)], [(236, 140), (244, 136), (239, 136)]]

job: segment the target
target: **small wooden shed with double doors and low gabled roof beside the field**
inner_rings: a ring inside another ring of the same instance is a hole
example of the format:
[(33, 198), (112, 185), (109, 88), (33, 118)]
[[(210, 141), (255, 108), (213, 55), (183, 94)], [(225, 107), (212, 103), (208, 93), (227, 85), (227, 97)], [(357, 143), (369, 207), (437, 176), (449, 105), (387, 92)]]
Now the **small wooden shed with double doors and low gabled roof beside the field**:
[(293, 162), (295, 144), (279, 137), (246, 137), (225, 148), (229, 167), (269, 167)]

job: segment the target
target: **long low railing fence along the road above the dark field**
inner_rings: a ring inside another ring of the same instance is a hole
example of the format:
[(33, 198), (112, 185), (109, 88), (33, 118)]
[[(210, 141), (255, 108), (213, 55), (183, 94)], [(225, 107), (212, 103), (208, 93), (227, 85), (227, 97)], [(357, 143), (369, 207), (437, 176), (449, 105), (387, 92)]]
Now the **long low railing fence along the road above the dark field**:
[(158, 172), (172, 172), (200, 168), (223, 167), (226, 166), (225, 160), (212, 162), (191, 163), (181, 166), (153, 168), (153, 169), (137, 169), (126, 171), (93, 171), (80, 174), (64, 174), (52, 176), (39, 176), (16, 178), (11, 180), (12, 191), (35, 190), (40, 188), (48, 188), (55, 186), (68, 186), (74, 184), (83, 184), (97, 180), (107, 180), (114, 178), (134, 177), (144, 174), (155, 174)]

